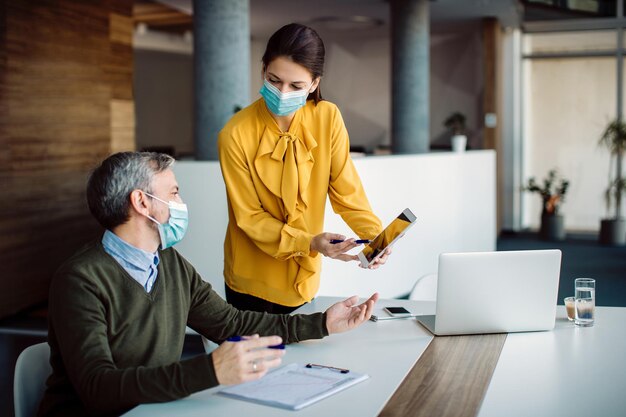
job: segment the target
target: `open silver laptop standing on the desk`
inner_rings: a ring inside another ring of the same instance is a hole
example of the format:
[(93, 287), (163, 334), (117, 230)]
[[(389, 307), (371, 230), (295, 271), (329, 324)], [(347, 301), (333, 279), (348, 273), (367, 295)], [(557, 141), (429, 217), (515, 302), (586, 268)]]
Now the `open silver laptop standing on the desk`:
[(418, 321), (438, 336), (550, 330), (560, 270), (557, 249), (441, 254), (436, 314)]

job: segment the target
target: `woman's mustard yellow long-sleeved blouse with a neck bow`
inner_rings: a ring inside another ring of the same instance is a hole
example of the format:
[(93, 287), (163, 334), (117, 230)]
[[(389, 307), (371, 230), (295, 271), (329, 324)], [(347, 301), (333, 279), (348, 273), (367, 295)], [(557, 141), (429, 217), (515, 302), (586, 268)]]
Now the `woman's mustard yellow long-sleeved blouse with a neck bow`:
[(282, 132), (263, 99), (235, 114), (218, 136), (229, 223), (224, 278), (230, 288), (297, 306), (319, 289), (326, 196), (362, 239), (382, 230), (350, 159), (341, 114), (313, 101)]

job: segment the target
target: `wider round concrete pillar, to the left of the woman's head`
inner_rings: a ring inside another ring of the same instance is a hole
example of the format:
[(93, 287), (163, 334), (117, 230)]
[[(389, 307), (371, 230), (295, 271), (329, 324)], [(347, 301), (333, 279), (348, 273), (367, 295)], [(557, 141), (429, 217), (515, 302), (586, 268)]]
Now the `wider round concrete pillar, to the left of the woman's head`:
[(217, 160), (217, 134), (250, 103), (249, 0), (194, 0), (196, 159)]

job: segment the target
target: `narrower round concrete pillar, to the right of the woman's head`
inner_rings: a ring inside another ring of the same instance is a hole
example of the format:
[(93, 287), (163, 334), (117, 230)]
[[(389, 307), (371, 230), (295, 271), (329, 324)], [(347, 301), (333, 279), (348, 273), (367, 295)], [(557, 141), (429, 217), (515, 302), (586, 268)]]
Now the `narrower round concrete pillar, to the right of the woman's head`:
[(430, 149), (429, 0), (391, 0), (391, 147), (393, 153)]

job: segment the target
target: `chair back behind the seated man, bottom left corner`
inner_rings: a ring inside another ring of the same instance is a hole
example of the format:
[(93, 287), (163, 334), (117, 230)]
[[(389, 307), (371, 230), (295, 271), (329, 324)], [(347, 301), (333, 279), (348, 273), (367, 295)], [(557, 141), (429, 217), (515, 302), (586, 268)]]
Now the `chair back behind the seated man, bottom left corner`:
[(51, 373), (48, 343), (29, 346), (20, 353), (13, 377), (15, 417), (32, 417), (37, 413)]

